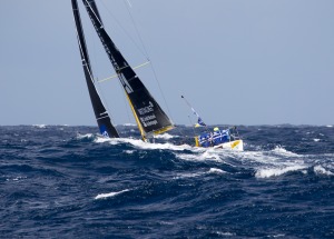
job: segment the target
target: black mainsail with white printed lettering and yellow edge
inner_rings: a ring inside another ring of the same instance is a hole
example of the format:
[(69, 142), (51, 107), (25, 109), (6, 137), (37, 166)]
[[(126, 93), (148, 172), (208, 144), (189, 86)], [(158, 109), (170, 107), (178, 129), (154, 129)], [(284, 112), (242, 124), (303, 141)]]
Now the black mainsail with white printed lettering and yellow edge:
[(82, 0), (82, 2), (124, 87), (143, 139), (173, 129), (171, 120), (149, 93), (106, 32), (95, 0)]

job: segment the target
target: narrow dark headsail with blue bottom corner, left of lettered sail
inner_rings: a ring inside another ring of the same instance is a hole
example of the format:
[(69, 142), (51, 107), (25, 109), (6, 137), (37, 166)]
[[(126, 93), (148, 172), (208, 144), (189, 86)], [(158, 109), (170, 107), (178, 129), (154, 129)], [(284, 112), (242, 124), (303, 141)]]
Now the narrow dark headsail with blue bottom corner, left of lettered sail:
[(75, 17), (76, 29), (77, 29), (77, 38), (78, 38), (79, 50), (82, 60), (85, 78), (86, 78), (88, 92), (89, 92), (89, 97), (91, 100), (91, 104), (92, 104), (92, 109), (95, 112), (98, 127), (102, 136), (110, 137), (110, 138), (119, 138), (119, 135), (116, 128), (112, 126), (108, 111), (106, 110), (94, 83), (94, 77), (92, 77), (89, 56), (86, 47), (86, 40), (84, 36), (84, 29), (81, 24), (78, 2), (77, 0), (71, 0), (71, 2), (72, 2), (72, 10), (73, 10), (73, 17)]

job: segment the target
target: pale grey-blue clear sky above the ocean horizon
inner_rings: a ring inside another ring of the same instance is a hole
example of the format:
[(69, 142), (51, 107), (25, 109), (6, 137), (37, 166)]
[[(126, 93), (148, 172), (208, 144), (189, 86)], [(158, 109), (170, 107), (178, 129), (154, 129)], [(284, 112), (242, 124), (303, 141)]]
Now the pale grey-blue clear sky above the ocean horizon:
[[(97, 4), (128, 62), (151, 61), (137, 73), (175, 123), (196, 121), (184, 94), (207, 125), (334, 125), (333, 0)], [(112, 76), (81, 10), (95, 77)], [(96, 125), (70, 1), (2, 0), (0, 31), (0, 126)], [(114, 123), (135, 123), (117, 79), (99, 89)]]

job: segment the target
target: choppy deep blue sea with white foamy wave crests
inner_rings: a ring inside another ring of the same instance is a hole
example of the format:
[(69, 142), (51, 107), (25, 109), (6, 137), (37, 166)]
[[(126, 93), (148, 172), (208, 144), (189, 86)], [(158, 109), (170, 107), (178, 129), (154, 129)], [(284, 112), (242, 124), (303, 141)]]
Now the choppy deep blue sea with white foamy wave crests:
[(334, 238), (334, 128), (238, 129), (244, 152), (0, 127), (0, 238)]

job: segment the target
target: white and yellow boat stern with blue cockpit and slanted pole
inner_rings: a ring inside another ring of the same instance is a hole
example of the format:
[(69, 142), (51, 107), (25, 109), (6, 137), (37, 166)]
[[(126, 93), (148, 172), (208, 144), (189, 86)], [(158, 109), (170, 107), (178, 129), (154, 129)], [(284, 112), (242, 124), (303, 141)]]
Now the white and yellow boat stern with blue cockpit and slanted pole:
[(244, 151), (244, 141), (240, 139), (236, 127), (230, 127), (223, 130), (220, 130), (218, 127), (215, 127), (213, 131), (210, 131), (207, 125), (199, 117), (199, 114), (186, 100), (186, 98), (184, 96), (181, 96), (181, 98), (185, 100), (185, 102), (188, 104), (188, 107), (197, 118), (197, 123), (195, 125), (195, 127), (205, 128), (202, 133), (194, 137), (196, 147)]

